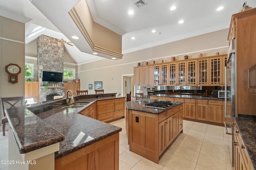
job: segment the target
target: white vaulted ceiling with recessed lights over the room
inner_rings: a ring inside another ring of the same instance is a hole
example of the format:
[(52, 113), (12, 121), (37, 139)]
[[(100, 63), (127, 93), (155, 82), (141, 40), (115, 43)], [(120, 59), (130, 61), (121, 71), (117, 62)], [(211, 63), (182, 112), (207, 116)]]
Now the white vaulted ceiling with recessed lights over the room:
[[(71, 41), (64, 45), (77, 64), (109, 56), (93, 51), (68, 15), (79, 0), (0, 0), (0, 15), (26, 23), (26, 43), (39, 35)], [(87, 0), (95, 22), (122, 35), (122, 54), (228, 28), (243, 0)], [(138, 8), (136, 6), (143, 5)], [(256, 7), (255, 0), (247, 5)], [(170, 10), (176, 6), (175, 10)], [(218, 7), (224, 7), (217, 11)], [(132, 10), (132, 15), (128, 11)], [(183, 20), (183, 23), (178, 23)], [(152, 33), (152, 30), (155, 30)], [(80, 39), (72, 39), (72, 36)], [(133, 39), (132, 39), (133, 37)]]

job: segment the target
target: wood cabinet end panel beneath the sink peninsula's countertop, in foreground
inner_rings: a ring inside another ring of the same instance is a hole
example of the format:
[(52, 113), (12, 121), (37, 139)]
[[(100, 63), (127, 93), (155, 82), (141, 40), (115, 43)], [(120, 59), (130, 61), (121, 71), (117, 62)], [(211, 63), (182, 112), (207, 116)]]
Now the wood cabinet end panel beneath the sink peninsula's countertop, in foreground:
[(119, 133), (55, 160), (55, 170), (118, 170)]

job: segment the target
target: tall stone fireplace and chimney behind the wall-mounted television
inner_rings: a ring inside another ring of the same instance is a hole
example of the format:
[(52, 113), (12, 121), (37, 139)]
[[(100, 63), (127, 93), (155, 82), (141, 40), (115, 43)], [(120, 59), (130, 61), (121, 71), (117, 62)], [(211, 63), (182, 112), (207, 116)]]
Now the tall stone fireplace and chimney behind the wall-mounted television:
[(48, 84), (48, 89), (39, 88), (39, 102), (46, 101), (46, 96), (53, 94), (64, 96), (63, 82), (43, 82), (42, 71), (63, 72), (64, 65), (64, 45), (60, 40), (46, 35), (40, 35), (37, 38), (37, 76), (39, 86)]

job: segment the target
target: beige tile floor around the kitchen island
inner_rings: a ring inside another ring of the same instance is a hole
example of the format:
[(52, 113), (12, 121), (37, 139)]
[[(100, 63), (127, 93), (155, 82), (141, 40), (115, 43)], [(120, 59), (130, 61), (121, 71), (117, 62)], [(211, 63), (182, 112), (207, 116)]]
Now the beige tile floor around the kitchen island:
[[(130, 152), (125, 119), (110, 124), (120, 132), (119, 170), (232, 170), (232, 138), (224, 127), (184, 120), (184, 130), (161, 155), (159, 164)], [(8, 160), (8, 131), (0, 135), (0, 160)], [(0, 164), (0, 170), (8, 167)]]

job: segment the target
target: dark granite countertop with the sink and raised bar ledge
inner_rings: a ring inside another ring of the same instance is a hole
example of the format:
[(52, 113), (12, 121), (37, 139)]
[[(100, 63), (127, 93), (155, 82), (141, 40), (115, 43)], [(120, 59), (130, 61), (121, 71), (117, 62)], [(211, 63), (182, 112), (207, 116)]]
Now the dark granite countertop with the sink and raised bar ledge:
[[(61, 108), (66, 101), (64, 98), (6, 109), (6, 111), (21, 154), (60, 142), (60, 150), (55, 152), (55, 159), (58, 159), (122, 131), (120, 127), (77, 114), (98, 100), (116, 98), (124, 97), (79, 98), (75, 103), (89, 102), (89, 104), (84, 107)], [(43, 111), (45, 106), (53, 108)], [(35, 110), (40, 110), (40, 113), (34, 114)], [(78, 135), (81, 140), (75, 141), (79, 138)]]

